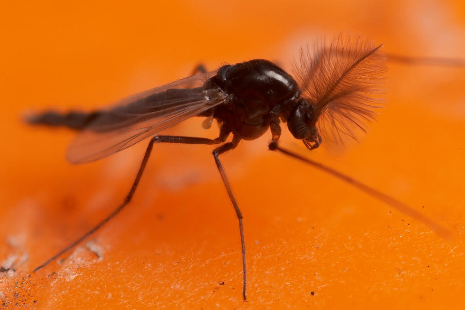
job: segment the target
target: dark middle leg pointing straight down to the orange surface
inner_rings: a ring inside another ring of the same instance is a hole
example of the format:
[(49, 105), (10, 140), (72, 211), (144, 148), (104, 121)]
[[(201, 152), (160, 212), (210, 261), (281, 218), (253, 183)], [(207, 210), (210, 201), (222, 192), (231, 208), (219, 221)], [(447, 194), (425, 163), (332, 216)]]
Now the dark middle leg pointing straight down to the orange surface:
[(246, 268), (246, 245), (244, 242), (244, 225), (242, 224), (242, 213), (237, 205), (236, 199), (234, 198), (234, 194), (232, 193), (231, 186), (229, 185), (228, 177), (226, 176), (226, 172), (224, 171), (223, 165), (219, 160), (219, 155), (234, 149), (237, 144), (239, 143), (240, 138), (232, 138), (232, 142), (225, 143), (219, 147), (217, 147), (213, 151), (213, 157), (215, 158), (216, 167), (218, 168), (219, 173), (221, 174), (221, 179), (223, 180), (224, 186), (228, 191), (229, 199), (232, 202), (232, 206), (234, 207), (234, 211), (236, 211), (237, 219), (239, 220), (239, 234), (241, 236), (241, 248), (242, 248), (242, 277), (243, 277), (243, 285), (242, 285), (242, 296), (244, 297), (244, 301), (247, 301), (246, 297), (246, 287), (247, 287), (247, 268)]

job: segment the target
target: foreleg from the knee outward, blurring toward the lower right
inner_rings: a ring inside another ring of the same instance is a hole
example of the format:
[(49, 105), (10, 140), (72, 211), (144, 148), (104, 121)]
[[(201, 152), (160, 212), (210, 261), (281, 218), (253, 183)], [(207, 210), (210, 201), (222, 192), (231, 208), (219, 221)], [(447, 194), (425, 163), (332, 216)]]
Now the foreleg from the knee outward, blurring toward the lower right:
[(429, 217), (427, 217), (423, 213), (418, 212), (414, 208), (407, 206), (406, 204), (404, 204), (403, 202), (397, 200), (396, 198), (391, 197), (391, 196), (389, 196), (389, 195), (387, 195), (387, 194), (385, 194), (385, 193), (383, 193), (383, 192), (381, 192), (381, 191), (379, 191), (377, 189), (369, 187), (368, 185), (366, 185), (366, 184), (364, 184), (364, 183), (362, 183), (360, 181), (355, 180), (354, 178), (350, 177), (347, 174), (344, 174), (344, 173), (339, 172), (339, 171), (337, 171), (335, 169), (332, 169), (331, 167), (325, 166), (325, 165), (323, 165), (323, 164), (321, 164), (319, 162), (316, 162), (316, 161), (311, 160), (309, 158), (303, 157), (301, 155), (298, 155), (296, 153), (293, 153), (291, 151), (283, 149), (282, 147), (278, 146), (278, 143), (276, 143), (276, 142), (271, 142), (269, 144), (268, 148), (271, 151), (279, 151), (279, 152), (281, 152), (281, 153), (283, 153), (285, 155), (289, 155), (291, 157), (299, 159), (300, 161), (303, 161), (303, 162), (315, 167), (316, 169), (319, 169), (319, 170), (321, 170), (323, 172), (331, 174), (332, 176), (335, 176), (336, 178), (349, 183), (353, 187), (362, 190), (366, 194), (368, 194), (368, 195), (370, 195), (370, 196), (384, 202), (385, 204), (387, 204), (387, 205), (389, 205), (391, 207), (394, 207), (394, 208), (398, 209), (400, 212), (410, 216), (411, 218), (413, 218), (413, 219), (415, 219), (415, 220), (417, 220), (419, 222), (422, 222), (423, 224), (430, 227), (436, 234), (438, 234), (442, 238), (448, 239), (448, 238), (452, 237), (452, 232), (447, 227), (444, 227), (443, 225), (435, 222), (434, 220), (430, 219)]

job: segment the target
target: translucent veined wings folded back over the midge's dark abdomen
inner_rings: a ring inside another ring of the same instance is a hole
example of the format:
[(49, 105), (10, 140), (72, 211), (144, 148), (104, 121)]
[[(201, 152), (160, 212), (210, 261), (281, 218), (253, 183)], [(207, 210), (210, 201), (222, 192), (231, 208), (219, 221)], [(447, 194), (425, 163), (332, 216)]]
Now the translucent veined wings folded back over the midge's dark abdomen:
[(96, 112), (95, 119), (69, 145), (66, 158), (84, 163), (112, 155), (223, 103), (224, 93), (203, 87), (214, 74), (202, 73), (153, 88)]

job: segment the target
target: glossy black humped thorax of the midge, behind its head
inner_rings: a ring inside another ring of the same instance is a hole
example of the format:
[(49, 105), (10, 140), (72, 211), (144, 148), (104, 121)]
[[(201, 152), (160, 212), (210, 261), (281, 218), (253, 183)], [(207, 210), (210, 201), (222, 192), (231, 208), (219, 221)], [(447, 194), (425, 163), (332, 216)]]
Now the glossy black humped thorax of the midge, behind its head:
[(213, 116), (223, 130), (246, 140), (262, 136), (278, 116), (285, 119), (299, 97), (294, 78), (264, 59), (223, 66), (205, 86), (226, 93), (228, 100), (215, 107)]

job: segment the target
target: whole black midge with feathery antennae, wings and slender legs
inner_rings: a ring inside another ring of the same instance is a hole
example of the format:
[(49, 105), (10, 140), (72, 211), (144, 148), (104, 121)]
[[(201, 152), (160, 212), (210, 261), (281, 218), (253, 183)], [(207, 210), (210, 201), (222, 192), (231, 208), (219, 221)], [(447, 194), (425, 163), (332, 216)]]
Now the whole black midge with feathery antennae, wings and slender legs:
[[(366, 122), (376, 117), (375, 110), (383, 103), (383, 74), (386, 69), (381, 47), (360, 37), (339, 37), (330, 45), (321, 43), (314, 51), (302, 52), (295, 64), (294, 77), (270, 61), (253, 59), (150, 89), (123, 99), (108, 109), (66, 114), (49, 111), (30, 116), (28, 121), (33, 124), (66, 126), (80, 131), (67, 151), (67, 159), (71, 163), (95, 161), (151, 137), (123, 203), (34, 271), (76, 246), (127, 206), (141, 180), (154, 143), (219, 145), (214, 149), (213, 157), (238, 219), (242, 295), (244, 301), (247, 300), (243, 215), (219, 155), (233, 150), (241, 140), (253, 140), (268, 130), (271, 132), (270, 150), (292, 156), (345, 180), (427, 224), (439, 235), (447, 235), (446, 228), (395, 198), (278, 144), (282, 123), (286, 123), (294, 138), (301, 140), (309, 150), (315, 150), (325, 141), (343, 143), (347, 138), (356, 138), (358, 131), (365, 131)], [(206, 118), (202, 123), (205, 128), (215, 119), (220, 124), (218, 137), (157, 135), (161, 130), (194, 116)], [(232, 138), (228, 141), (230, 136)]]

